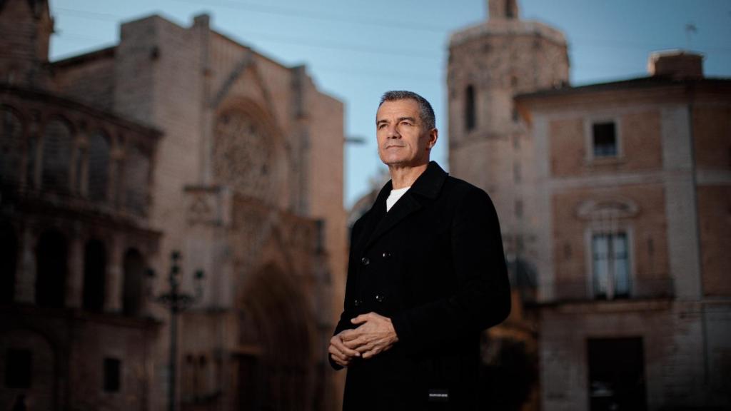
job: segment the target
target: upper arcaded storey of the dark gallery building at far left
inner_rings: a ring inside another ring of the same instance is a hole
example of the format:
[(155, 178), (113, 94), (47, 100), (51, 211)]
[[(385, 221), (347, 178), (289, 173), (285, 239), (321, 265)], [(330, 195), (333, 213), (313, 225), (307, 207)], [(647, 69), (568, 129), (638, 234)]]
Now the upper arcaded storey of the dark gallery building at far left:
[(144, 218), (161, 133), (42, 91), (0, 86), (2, 205)]

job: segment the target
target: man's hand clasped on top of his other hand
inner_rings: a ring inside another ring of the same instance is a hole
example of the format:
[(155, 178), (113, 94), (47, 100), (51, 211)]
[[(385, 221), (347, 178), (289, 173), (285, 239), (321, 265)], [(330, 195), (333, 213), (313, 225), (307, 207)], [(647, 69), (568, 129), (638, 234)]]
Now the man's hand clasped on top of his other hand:
[(359, 352), (363, 358), (371, 358), (398, 342), (398, 336), (388, 317), (369, 312), (360, 314), (350, 322), (359, 325), (358, 328), (338, 335), (347, 348)]

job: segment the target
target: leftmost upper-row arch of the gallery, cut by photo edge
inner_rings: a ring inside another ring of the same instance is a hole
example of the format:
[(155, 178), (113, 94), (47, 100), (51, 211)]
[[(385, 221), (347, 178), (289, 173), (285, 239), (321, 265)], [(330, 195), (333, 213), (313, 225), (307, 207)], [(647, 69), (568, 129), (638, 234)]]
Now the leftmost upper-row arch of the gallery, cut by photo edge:
[(0, 181), (20, 182), (23, 161), (23, 126), (10, 108), (0, 108)]

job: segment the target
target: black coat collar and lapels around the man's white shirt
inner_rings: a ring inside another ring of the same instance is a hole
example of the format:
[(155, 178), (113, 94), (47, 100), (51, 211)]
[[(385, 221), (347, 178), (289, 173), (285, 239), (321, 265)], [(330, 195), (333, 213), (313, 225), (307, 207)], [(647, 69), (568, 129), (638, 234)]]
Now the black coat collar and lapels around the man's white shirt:
[(429, 162), (424, 173), (414, 181), (414, 184), (404, 194), (404, 197), (401, 197), (393, 208), (386, 212), (386, 198), (393, 187), (392, 182), (388, 181), (381, 189), (381, 192), (379, 192), (376, 203), (374, 203), (369, 213), (369, 222), (361, 237), (361, 241), (367, 240), (365, 247), (368, 247), (391, 230), (395, 225), (405, 219), (406, 216), (420, 209), (423, 203), (435, 199), (442, 190), (442, 185), (446, 179), (447, 172), (442, 170), (442, 167), (439, 167), (436, 162)]

